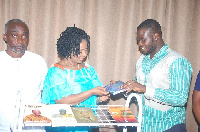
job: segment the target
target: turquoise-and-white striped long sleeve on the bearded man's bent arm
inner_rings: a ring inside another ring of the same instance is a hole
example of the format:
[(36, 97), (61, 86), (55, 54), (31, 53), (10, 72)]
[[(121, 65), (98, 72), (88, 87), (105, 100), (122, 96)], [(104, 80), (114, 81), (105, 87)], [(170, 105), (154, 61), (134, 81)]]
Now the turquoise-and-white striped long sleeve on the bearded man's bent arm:
[(160, 103), (184, 106), (188, 98), (192, 72), (189, 61), (185, 58), (178, 58), (169, 69), (170, 88), (156, 88), (154, 98)]

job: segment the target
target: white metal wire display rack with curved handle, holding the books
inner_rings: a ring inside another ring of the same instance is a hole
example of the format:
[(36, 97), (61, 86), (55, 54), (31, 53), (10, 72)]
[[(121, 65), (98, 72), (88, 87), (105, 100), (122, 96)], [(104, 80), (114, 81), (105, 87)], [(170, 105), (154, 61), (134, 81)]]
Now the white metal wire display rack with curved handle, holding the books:
[[(97, 122), (96, 123), (69, 123), (66, 124), (65, 126), (99, 126), (99, 127), (107, 127), (107, 126), (122, 126), (123, 127), (123, 132), (127, 131), (128, 126), (132, 127), (137, 127), (137, 132), (141, 131), (141, 121), (142, 121), (142, 101), (140, 99), (140, 96), (137, 95), (136, 93), (131, 93), (126, 100), (125, 107), (129, 107), (130, 101), (132, 98), (136, 98), (138, 105), (139, 105), (139, 111), (138, 111), (138, 116), (137, 116), (137, 122), (116, 122), (112, 116), (111, 113), (109, 112), (109, 107), (113, 106), (123, 106), (123, 105), (98, 105), (95, 107), (91, 107), (93, 111), (96, 111), (96, 118)], [(22, 115), (21, 115), (22, 116)], [(23, 116), (24, 117), (24, 116)], [(19, 118), (22, 119), (22, 118)], [(44, 128), (45, 126), (52, 126), (51, 123), (18, 123), (18, 129), (16, 131), (21, 131), (21, 127), (23, 128), (30, 128), (33, 127), (35, 129), (38, 129), (39, 127)], [(62, 125), (63, 126), (63, 125)]]

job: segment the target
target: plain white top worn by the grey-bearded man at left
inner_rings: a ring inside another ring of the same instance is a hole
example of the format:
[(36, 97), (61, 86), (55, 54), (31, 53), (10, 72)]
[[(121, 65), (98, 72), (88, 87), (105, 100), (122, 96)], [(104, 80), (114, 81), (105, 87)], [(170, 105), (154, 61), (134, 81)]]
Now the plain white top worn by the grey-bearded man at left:
[(21, 58), (0, 52), (0, 131), (9, 131), (7, 126), (13, 125), (18, 105), (41, 102), (47, 70), (45, 60), (30, 51)]

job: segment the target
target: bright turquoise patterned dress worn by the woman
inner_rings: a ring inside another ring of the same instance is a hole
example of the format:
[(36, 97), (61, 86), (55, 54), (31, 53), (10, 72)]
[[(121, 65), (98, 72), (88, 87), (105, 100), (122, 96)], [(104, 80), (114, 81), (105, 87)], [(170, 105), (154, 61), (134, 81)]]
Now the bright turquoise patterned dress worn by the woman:
[[(85, 67), (80, 70), (70, 70), (54, 64), (48, 70), (44, 81), (42, 103), (55, 104), (55, 100), (60, 100), (71, 94), (79, 94), (97, 86), (102, 86), (102, 83), (92, 66), (85, 63)], [(91, 105), (95, 106), (96, 102), (97, 96), (93, 95), (78, 105), (90, 107)], [(91, 127), (46, 127), (46, 131), (87, 132), (91, 131)]]

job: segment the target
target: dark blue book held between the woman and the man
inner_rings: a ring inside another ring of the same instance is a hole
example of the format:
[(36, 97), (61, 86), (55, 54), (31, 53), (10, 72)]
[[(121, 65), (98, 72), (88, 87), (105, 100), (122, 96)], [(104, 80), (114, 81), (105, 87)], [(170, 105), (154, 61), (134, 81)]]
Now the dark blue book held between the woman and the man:
[(124, 84), (124, 82), (122, 82), (122, 81), (116, 81), (115, 83), (106, 85), (105, 88), (111, 94), (116, 95), (118, 93), (125, 92), (123, 89), (121, 89), (121, 86), (123, 84)]

